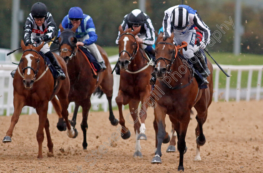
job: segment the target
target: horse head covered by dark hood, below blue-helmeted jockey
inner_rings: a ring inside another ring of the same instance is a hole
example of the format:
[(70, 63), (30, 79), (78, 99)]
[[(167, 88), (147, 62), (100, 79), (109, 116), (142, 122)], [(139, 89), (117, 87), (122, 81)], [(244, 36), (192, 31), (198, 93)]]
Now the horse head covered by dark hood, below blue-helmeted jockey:
[(72, 29), (64, 29), (62, 25), (59, 25), (61, 34), (59, 35), (59, 55), (68, 63), (76, 52), (77, 38), (75, 37), (75, 31), (77, 26)]

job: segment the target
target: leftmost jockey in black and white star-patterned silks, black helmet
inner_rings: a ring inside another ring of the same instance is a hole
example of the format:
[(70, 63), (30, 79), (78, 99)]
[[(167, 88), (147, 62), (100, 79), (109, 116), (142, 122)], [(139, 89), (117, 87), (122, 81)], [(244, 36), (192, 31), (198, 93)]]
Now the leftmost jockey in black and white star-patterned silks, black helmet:
[[(51, 13), (48, 12), (45, 4), (34, 3), (31, 8), (31, 13), (28, 15), (26, 24), (24, 26), (25, 45), (28, 46), (33, 43), (34, 46), (39, 46), (42, 41), (53, 39), (56, 34), (56, 29), (57, 26), (54, 22), (54, 19)], [(64, 80), (66, 76), (59, 66), (54, 55), (50, 52), (49, 45), (45, 44), (40, 51), (49, 58), (50, 62), (55, 67), (57, 71), (55, 79)]]

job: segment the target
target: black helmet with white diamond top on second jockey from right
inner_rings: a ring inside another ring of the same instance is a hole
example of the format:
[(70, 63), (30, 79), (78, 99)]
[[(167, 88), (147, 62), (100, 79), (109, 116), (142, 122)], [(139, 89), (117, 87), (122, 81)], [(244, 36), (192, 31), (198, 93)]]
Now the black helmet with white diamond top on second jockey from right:
[(132, 10), (132, 12), (128, 14), (127, 18), (128, 18), (128, 22), (131, 25), (137, 25), (137, 26), (144, 24), (146, 20), (144, 13), (139, 9)]

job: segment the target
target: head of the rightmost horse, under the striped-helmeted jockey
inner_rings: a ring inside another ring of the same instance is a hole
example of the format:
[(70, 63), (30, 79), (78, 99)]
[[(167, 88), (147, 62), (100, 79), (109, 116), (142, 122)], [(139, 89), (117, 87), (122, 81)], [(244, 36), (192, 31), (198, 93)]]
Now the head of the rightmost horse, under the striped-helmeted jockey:
[(157, 46), (155, 48), (156, 60), (154, 72), (157, 78), (164, 78), (166, 72), (171, 71), (171, 66), (175, 60), (175, 45), (173, 44), (173, 32), (170, 37), (162, 32), (158, 35)]

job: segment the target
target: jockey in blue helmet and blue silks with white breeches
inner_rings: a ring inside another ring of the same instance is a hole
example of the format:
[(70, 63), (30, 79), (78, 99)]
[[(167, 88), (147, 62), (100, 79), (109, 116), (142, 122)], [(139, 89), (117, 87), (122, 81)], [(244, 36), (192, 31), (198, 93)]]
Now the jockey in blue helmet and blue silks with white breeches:
[[(100, 64), (101, 68), (105, 70), (106, 66), (101, 57), (101, 53), (95, 45), (95, 42), (98, 38), (97, 34), (95, 33), (95, 25), (93, 23), (92, 18), (89, 15), (83, 14), (83, 11), (80, 7), (70, 8), (68, 15), (66, 15), (62, 20), (62, 27), (64, 29), (71, 29), (76, 25), (79, 26), (75, 31), (75, 35), (78, 41), (76, 43), (76, 46), (83, 46), (89, 52), (91, 52), (91, 54), (96, 58), (96, 60)], [(60, 29), (58, 37), (59, 35)]]

